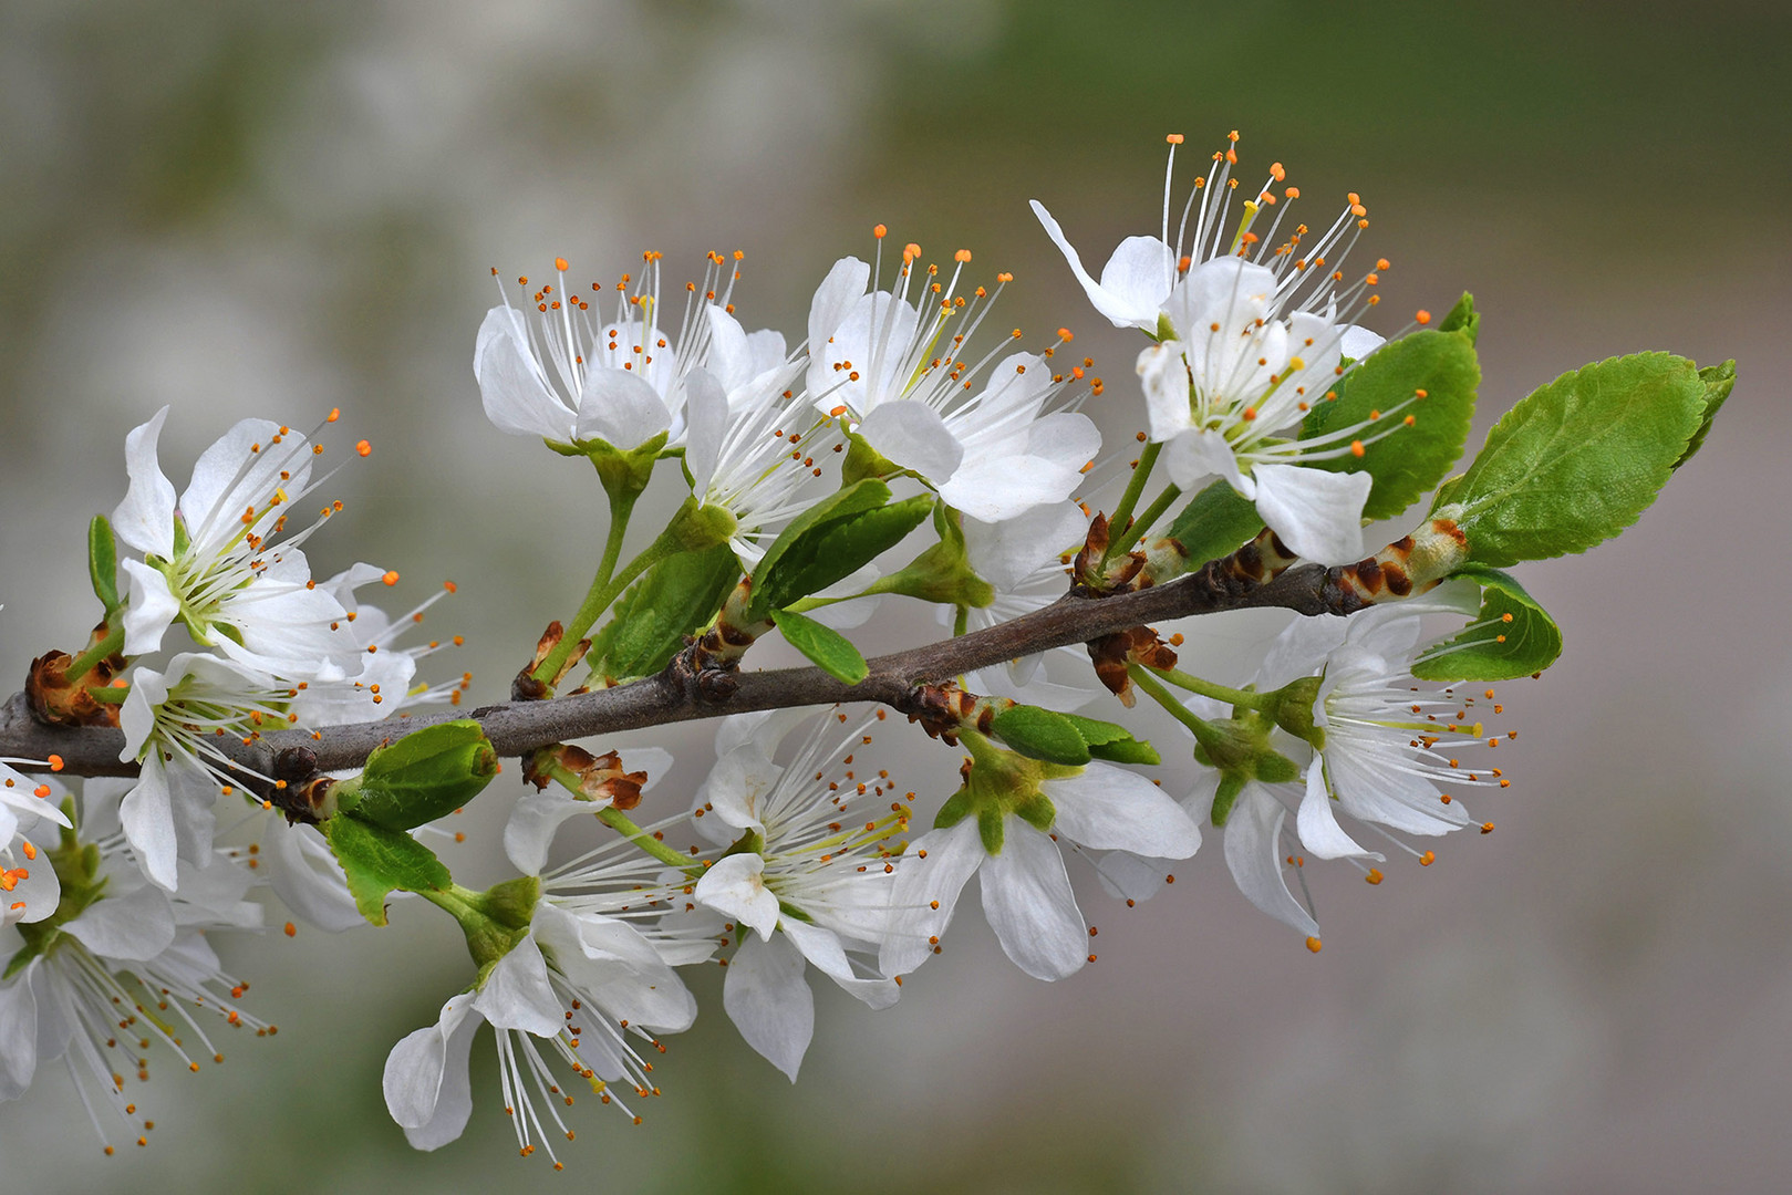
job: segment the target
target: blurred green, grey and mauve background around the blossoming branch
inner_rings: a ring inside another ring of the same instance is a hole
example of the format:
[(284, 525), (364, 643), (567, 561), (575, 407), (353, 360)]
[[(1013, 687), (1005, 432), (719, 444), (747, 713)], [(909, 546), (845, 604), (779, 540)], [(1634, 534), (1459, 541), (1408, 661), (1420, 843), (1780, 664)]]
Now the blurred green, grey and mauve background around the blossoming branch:
[[(1027, 980), (968, 919), (889, 1012), (817, 989), (794, 1088), (704, 975), (647, 1123), (582, 1102), (554, 1175), (516, 1159), (487, 1046), (457, 1145), (412, 1154), (387, 1120), (387, 1048), (466, 980), (453, 926), (400, 907), (387, 930), (233, 944), (280, 1036), (199, 1077), (163, 1066), (151, 1148), (113, 1159), (48, 1075), (0, 1107), (0, 1186), (1783, 1190), (1788, 64), (1792, 18), (1767, 0), (11, 0), (14, 677), (84, 636), (82, 529), (122, 496), (131, 426), (172, 403), (163, 459), (183, 477), (237, 417), (308, 426), (339, 405), (376, 450), (335, 482), (348, 514), (314, 561), (380, 561), (416, 597), (457, 579), (432, 627), (468, 647), (443, 672), (500, 695), (582, 591), (602, 505), (588, 471), (478, 412), (491, 265), (564, 254), (611, 278), (652, 247), (676, 276), (738, 247), (742, 315), (794, 342), (828, 263), (869, 253), (883, 220), (1012, 271), (1004, 322), (1073, 326), (1113, 374), (1098, 414), (1122, 443), (1143, 426), (1136, 346), (1097, 326), (1025, 201), (1100, 262), (1156, 228), (1170, 131), (1199, 154), (1242, 129), (1245, 176), (1285, 161), (1308, 219), (1360, 192), (1366, 247), (1394, 260), (1383, 331), (1471, 288), (1482, 425), (1645, 348), (1735, 357), (1742, 382), (1636, 529), (1523, 570), (1568, 649), (1503, 686), (1516, 783), (1475, 806), (1498, 833), (1446, 842), (1428, 871), (1396, 860), (1380, 889), (1317, 873), (1317, 957), (1210, 844), (1140, 908), (1090, 885), (1100, 962), (1064, 984)], [(934, 634), (907, 616), (878, 632)], [(683, 742), (659, 790), (676, 803), (710, 760)], [(468, 815), (473, 878), (498, 874), (504, 801)]]

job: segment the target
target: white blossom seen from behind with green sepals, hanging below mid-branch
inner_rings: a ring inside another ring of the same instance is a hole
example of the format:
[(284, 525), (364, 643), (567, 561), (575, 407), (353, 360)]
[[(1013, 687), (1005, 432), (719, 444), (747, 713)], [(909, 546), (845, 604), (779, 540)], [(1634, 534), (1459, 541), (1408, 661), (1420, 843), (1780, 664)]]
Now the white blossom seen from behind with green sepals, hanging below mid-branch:
[[(1088, 960), (1088, 926), (1070, 890), (1061, 842), (1145, 858), (1188, 858), (1201, 830), (1143, 776), (1095, 761), (1038, 765), (966, 735), (966, 788), (916, 838), (896, 871), (885, 975), (916, 969), (939, 948), (959, 894), (980, 876), (984, 917), (1027, 975), (1061, 980)], [(982, 776), (978, 776), (982, 769)]]

